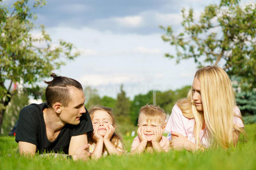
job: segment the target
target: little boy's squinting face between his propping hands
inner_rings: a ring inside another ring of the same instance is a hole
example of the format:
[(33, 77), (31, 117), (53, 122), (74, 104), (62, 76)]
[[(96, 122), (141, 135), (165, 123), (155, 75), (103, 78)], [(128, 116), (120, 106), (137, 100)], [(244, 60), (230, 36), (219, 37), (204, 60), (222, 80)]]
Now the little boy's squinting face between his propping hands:
[(138, 126), (142, 126), (143, 134), (145, 135), (147, 141), (152, 141), (152, 138), (155, 135), (156, 127), (164, 129), (163, 122), (160, 121), (159, 118), (148, 121), (148, 118), (144, 114), (139, 116)]

